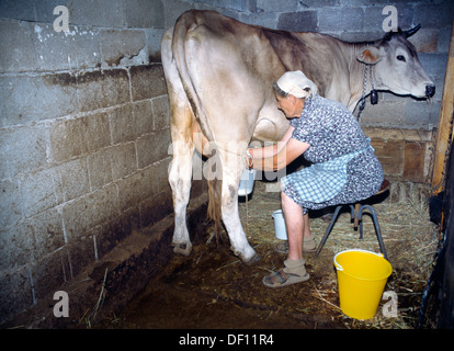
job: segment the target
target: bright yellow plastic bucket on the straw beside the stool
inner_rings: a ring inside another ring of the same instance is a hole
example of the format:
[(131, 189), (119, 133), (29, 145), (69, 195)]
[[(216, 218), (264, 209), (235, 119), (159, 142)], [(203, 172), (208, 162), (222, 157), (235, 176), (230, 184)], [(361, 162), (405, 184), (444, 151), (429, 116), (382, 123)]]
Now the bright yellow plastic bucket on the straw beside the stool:
[(382, 253), (347, 250), (334, 256), (341, 310), (355, 319), (377, 313), (393, 267)]

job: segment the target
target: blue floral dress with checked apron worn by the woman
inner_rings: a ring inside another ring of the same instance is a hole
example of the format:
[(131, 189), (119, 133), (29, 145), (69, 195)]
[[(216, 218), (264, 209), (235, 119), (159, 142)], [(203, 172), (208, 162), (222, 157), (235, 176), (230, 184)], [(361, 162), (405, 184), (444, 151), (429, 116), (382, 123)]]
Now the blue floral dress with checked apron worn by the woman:
[[(382, 165), (359, 122), (340, 102), (306, 98), (302, 115), (291, 125), (292, 137), (310, 145), (304, 157), (313, 165), (284, 177), (282, 191), (304, 213), (354, 203), (379, 190)], [(314, 196), (308, 189), (319, 189), (321, 195)]]

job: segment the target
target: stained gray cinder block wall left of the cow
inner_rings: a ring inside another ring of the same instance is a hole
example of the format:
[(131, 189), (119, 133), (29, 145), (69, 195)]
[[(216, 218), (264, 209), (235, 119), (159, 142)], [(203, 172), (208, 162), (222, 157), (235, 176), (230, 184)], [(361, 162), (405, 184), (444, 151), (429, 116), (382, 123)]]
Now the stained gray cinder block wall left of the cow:
[(160, 1), (0, 2), (0, 321), (171, 213), (163, 26)]

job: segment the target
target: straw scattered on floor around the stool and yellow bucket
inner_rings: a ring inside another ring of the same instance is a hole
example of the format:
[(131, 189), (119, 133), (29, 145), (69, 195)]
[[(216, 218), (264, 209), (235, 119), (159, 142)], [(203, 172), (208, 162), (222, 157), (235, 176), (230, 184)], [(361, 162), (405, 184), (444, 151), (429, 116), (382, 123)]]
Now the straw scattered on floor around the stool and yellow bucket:
[[(272, 213), (281, 208), (280, 193), (268, 192), (273, 184), (256, 181), (254, 192), (249, 201), (240, 201), (239, 211), (241, 222), (248, 239), (263, 257), (275, 257), (273, 246), (280, 240), (275, 238)], [(379, 252), (378, 241), (372, 217), (363, 216), (364, 238), (359, 240), (359, 231), (354, 231), (350, 212), (342, 213), (338, 218), (331, 235), (321, 253), (316, 259), (307, 254), (307, 268), (313, 279), (310, 292), (315, 302), (322, 302), (330, 309), (337, 321), (347, 328), (415, 328), (419, 317), (421, 295), (433, 268), (433, 259), (438, 249), (436, 226), (429, 219), (428, 203), (411, 202), (409, 200), (390, 203), (384, 201), (374, 204), (377, 213), (382, 236), (393, 265), (393, 274), (388, 279), (385, 291), (397, 293), (397, 317), (384, 317), (383, 301), (377, 315), (370, 320), (360, 321), (344, 316), (339, 309), (337, 276), (333, 270), (332, 258), (336, 253), (347, 249), (364, 249)], [(321, 240), (328, 223), (321, 214), (310, 217), (310, 228), (316, 236), (317, 244)], [(284, 258), (285, 259), (285, 258)], [(276, 269), (275, 259), (264, 270)], [(273, 267), (271, 267), (271, 264)], [(279, 267), (277, 267), (279, 268)], [(310, 307), (305, 307), (310, 310)]]

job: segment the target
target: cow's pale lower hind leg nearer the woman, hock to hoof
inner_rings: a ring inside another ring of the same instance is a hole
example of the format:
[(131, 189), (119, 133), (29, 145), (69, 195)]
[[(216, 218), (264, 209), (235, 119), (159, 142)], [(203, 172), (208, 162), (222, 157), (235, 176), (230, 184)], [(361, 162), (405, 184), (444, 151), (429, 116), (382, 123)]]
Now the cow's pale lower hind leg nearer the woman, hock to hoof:
[(237, 172), (223, 172), (223, 200), (222, 215), (230, 239), (230, 249), (246, 264), (253, 264), (260, 260), (254, 249), (249, 245), (245, 230), (242, 229), (238, 212), (238, 184)]

